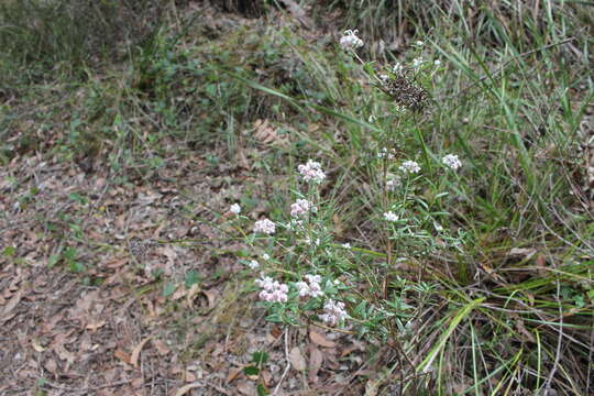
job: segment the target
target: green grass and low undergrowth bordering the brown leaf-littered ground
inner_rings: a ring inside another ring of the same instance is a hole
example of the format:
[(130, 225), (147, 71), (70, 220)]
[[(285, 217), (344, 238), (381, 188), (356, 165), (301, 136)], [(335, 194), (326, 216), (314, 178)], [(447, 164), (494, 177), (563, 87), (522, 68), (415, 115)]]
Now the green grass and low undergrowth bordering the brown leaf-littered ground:
[[(190, 155), (223, 147), (228, 162), (257, 148), (254, 174), (286, 176), (267, 205), (283, 223), (293, 199), (309, 194), (298, 189), (296, 166), (312, 158), (328, 175), (317, 197), (328, 251), (315, 255), (280, 235), (283, 248), (266, 249), (284, 261), (268, 270), (297, 280), (308, 270), (300, 257), (311, 256), (324, 276), (350, 285), (348, 331), (374, 344), (370, 362), (380, 363), (367, 380), (378, 394), (594, 392), (594, 228), (591, 202), (576, 193), (586, 177), (579, 148), (592, 113), (594, 6), (311, 6), (315, 19), (339, 10), (340, 26), (360, 29), (363, 66), (328, 38), (342, 32), (308, 41), (297, 25), (262, 19), (211, 38), (199, 18), (176, 13), (101, 68), (66, 51), (61, 62), (84, 76), (74, 82), (47, 67), (48, 54), (23, 54), (43, 67), (2, 91), (13, 99), (1, 108), (0, 161), (35, 151), (97, 157), (127, 176), (158, 166), (145, 154), (165, 157), (165, 142)], [(418, 40), (422, 48), (413, 45)], [(365, 75), (417, 56), (441, 64), (418, 81), (427, 107), (400, 117)], [(22, 65), (3, 67), (18, 74)], [(270, 139), (255, 135), (257, 120), (273, 125)], [(378, 160), (384, 147), (394, 148), (393, 163)], [(443, 169), (447, 154), (459, 155), (458, 172)], [(405, 160), (421, 176), (406, 180), (407, 194), (386, 194), (386, 178)], [(381, 226), (388, 204), (410, 219), (410, 233)], [(243, 223), (230, 237), (249, 231)], [(345, 242), (348, 252), (339, 248)], [(309, 323), (289, 318), (294, 311), (273, 307), (273, 319)]]

